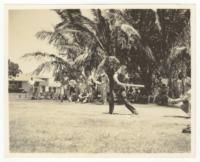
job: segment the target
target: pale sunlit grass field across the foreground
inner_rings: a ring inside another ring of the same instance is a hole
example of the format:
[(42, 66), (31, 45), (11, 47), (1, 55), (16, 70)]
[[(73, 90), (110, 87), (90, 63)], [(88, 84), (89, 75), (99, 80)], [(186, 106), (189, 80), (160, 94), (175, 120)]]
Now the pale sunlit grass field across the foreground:
[(15, 153), (182, 153), (191, 136), (189, 122), (177, 108), (122, 105), (107, 114), (107, 105), (58, 101), (11, 101), (10, 152)]

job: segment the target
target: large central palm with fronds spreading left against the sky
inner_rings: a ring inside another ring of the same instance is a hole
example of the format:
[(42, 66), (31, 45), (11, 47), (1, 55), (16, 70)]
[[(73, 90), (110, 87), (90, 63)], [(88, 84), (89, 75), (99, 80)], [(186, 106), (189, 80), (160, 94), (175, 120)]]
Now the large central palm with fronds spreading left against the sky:
[[(93, 19), (84, 17), (80, 10), (55, 10), (62, 22), (57, 24), (53, 32), (41, 31), (36, 34), (39, 39), (48, 39), (62, 53), (33, 53), (24, 57), (48, 57), (50, 62), (42, 64), (37, 72), (54, 65), (56, 72), (70, 66), (82, 67), (83, 70), (103, 69), (109, 77), (109, 112), (114, 109), (113, 75), (119, 64), (142, 67), (146, 58), (154, 60), (148, 44), (144, 44), (138, 30), (125, 19), (122, 10), (90, 10)], [(137, 51), (137, 52), (136, 52)], [(139, 56), (140, 54), (140, 56)], [(142, 56), (142, 57), (141, 57)], [(144, 56), (144, 57), (143, 57)], [(64, 59), (65, 58), (65, 59)], [(137, 61), (135, 61), (137, 59)], [(70, 61), (73, 62), (70, 64)], [(73, 64), (73, 65), (72, 65)], [(131, 69), (132, 69), (131, 67)], [(149, 65), (148, 68), (149, 69)]]

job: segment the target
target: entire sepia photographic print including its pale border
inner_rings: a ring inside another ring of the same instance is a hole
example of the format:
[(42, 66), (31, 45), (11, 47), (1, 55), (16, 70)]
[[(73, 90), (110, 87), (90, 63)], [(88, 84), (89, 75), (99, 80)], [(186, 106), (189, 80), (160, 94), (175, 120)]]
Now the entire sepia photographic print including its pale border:
[(8, 153), (192, 155), (193, 7), (8, 5)]

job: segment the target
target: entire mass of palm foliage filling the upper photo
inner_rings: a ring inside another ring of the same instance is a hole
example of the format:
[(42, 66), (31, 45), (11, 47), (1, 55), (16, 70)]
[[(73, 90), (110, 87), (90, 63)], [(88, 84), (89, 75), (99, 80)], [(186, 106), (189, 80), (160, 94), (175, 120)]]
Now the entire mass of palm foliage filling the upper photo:
[[(120, 64), (127, 65), (130, 74), (137, 75), (148, 94), (153, 74), (169, 78), (173, 76), (171, 68), (180, 70), (183, 67), (183, 63), (181, 67), (173, 63), (175, 58), (179, 61), (183, 56), (183, 52), (177, 52), (179, 48), (186, 49), (185, 56), (187, 60), (190, 58), (189, 10), (91, 9), (88, 10), (91, 17), (83, 16), (79, 9), (54, 11), (61, 22), (54, 31), (40, 31), (36, 37), (47, 39), (58, 49), (58, 54), (36, 52), (24, 57), (48, 58), (36, 72), (54, 66), (55, 76), (61, 78), (69, 71), (86, 75), (94, 69), (105, 71), (110, 80), (111, 111), (114, 107), (113, 75)], [(189, 69), (189, 62), (184, 64)]]

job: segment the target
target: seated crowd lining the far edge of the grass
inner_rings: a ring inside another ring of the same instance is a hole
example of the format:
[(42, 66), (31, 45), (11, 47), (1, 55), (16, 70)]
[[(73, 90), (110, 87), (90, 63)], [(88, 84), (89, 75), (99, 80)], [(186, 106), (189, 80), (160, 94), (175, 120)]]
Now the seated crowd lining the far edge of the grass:
[[(37, 94), (37, 97), (34, 97), (36, 94), (33, 93), (32, 98), (53, 99), (60, 100), (61, 102), (92, 102), (106, 104), (108, 102), (108, 93), (108, 81), (105, 74), (100, 75), (97, 80), (91, 78), (86, 80), (81, 75), (77, 80), (68, 80), (67, 84), (60, 87), (60, 92), (56, 92), (55, 89), (52, 89), (51, 91), (41, 92), (39, 95)], [(168, 105), (169, 87), (162, 82), (162, 79), (158, 79), (154, 83), (151, 93), (148, 95), (145, 93), (144, 88), (136, 87), (127, 87), (126, 94), (127, 99), (131, 103)], [(120, 98), (116, 92), (114, 98), (115, 102), (120, 104)]]

